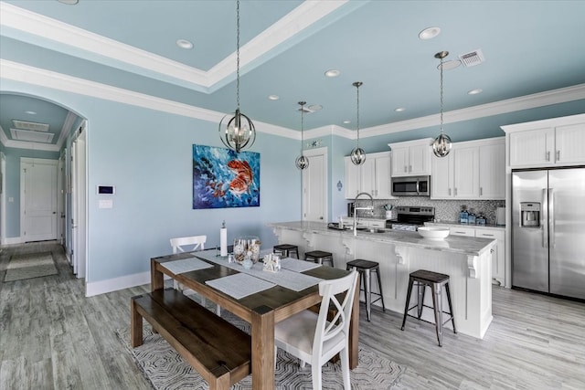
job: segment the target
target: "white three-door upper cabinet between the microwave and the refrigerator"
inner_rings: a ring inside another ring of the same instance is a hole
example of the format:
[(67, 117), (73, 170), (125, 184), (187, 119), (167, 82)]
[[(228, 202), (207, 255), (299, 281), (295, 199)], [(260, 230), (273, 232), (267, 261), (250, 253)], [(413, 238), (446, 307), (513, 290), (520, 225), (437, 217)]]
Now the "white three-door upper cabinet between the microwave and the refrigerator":
[(432, 199), (505, 199), (505, 140), (453, 143), (431, 156)]

